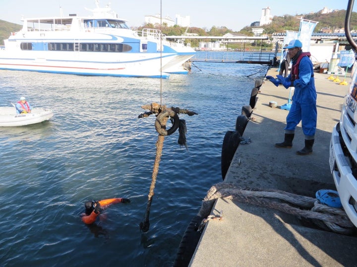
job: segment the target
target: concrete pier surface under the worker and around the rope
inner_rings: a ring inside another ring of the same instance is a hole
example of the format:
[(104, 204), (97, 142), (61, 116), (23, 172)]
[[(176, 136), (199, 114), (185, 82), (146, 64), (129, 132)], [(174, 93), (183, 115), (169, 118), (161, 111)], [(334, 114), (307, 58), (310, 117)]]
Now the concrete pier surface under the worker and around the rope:
[[(276, 69), (270, 69), (267, 75), (277, 74)], [(224, 182), (309, 197), (315, 197), (319, 189), (336, 190), (329, 166), (329, 144), (349, 86), (328, 80), (329, 76), (315, 73), (318, 119), (313, 153), (296, 154), (304, 146), (301, 124), (293, 148), (274, 146), (284, 139), (288, 111), (279, 106), (288, 102), (289, 90), (266, 81), (243, 134), (251, 138), (251, 143), (238, 146)], [(350, 82), (349, 75), (346, 80)], [(270, 101), (277, 102), (278, 107), (269, 107)], [(234, 131), (235, 125), (229, 130)], [(191, 267), (357, 266), (356, 235), (321, 230), (293, 215), (229, 199), (217, 199), (211, 215), (221, 211), (223, 220), (206, 224)]]

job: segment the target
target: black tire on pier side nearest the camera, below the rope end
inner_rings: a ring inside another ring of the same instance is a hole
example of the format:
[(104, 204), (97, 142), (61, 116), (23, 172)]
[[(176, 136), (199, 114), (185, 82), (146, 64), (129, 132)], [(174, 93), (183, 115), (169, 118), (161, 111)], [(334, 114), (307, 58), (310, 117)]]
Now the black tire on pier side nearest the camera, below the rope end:
[(196, 215), (188, 224), (179, 244), (179, 251), (176, 255), (174, 267), (186, 267), (189, 265), (198, 241), (201, 238), (202, 231), (197, 231), (197, 229), (202, 220), (202, 217)]

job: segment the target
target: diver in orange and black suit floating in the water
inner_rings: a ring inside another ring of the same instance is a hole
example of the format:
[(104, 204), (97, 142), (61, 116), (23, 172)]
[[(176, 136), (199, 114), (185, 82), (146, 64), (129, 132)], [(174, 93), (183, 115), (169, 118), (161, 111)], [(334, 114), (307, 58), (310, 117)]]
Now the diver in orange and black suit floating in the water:
[(83, 223), (92, 224), (96, 221), (98, 215), (101, 211), (107, 208), (111, 204), (115, 203), (129, 203), (130, 199), (128, 198), (108, 198), (99, 201), (86, 201), (84, 203), (85, 213), (81, 214)]

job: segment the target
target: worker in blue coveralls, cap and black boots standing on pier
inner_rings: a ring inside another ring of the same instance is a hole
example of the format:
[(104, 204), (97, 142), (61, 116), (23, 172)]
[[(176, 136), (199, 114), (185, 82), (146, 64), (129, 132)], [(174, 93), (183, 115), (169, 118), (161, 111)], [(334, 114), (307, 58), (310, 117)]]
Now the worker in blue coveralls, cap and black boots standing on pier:
[(297, 151), (297, 155), (309, 155), (315, 140), (317, 108), (316, 88), (314, 81), (313, 65), (309, 52), (302, 52), (302, 44), (298, 40), (292, 40), (288, 53), (292, 59), (292, 69), (288, 77), (277, 75), (277, 78), (266, 76), (265, 78), (275, 86), (283, 85), (286, 89), (295, 87), (292, 97), (293, 103), (286, 118), (287, 125), (284, 128), (285, 137), (282, 143), (276, 143), (276, 147), (291, 148), (295, 135), (295, 128), (301, 121), (302, 131), (305, 135), (305, 146)]

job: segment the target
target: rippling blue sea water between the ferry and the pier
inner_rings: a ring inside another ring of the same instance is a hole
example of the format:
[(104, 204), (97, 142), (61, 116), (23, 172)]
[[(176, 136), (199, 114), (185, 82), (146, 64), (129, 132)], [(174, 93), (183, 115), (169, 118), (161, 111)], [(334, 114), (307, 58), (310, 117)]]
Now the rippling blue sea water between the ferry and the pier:
[[(0, 266), (172, 266), (207, 191), (222, 181), (224, 135), (266, 70), (196, 62), (165, 80), (0, 71), (0, 106), (25, 96), (55, 114), (0, 128)], [(198, 115), (179, 114), (187, 149), (178, 131), (165, 137), (143, 233), (158, 133), (154, 115), (138, 115), (152, 102)], [(114, 197), (131, 202), (82, 223), (85, 201)]]

